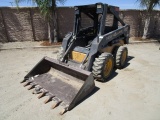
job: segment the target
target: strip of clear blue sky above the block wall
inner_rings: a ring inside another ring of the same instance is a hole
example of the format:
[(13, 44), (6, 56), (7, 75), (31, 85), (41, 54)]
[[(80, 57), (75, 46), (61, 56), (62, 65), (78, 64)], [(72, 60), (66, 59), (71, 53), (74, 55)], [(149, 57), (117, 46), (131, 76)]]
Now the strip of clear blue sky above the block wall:
[[(15, 7), (15, 0), (0, 0), (0, 6), (2, 7)], [(27, 0), (26, 0), (27, 1)], [(137, 0), (66, 0), (64, 4), (58, 3), (58, 6), (76, 6), (76, 5), (85, 5), (85, 4), (95, 4), (97, 2), (107, 3), (109, 5), (114, 5), (120, 7), (120, 9), (140, 9), (139, 3)], [(19, 6), (30, 7), (36, 6), (31, 2), (21, 2)], [(160, 10), (160, 7), (156, 7)]]

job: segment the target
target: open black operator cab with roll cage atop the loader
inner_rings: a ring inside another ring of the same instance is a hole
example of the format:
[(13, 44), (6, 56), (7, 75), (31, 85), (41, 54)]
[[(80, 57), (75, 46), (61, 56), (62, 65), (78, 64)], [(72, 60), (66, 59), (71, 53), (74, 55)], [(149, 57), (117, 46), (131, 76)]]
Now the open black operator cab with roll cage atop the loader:
[(110, 7), (119, 11), (118, 7), (103, 3), (75, 6), (73, 34), (76, 35), (77, 39), (83, 41), (77, 41), (78, 45), (81, 47), (89, 46), (97, 36), (118, 28), (118, 20), (111, 13)]

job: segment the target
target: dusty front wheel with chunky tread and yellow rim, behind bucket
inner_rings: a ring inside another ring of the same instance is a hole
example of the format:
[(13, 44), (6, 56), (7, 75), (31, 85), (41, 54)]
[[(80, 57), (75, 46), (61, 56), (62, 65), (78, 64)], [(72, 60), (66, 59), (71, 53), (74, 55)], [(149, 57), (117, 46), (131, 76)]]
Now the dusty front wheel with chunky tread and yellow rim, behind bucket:
[(95, 58), (92, 67), (94, 78), (99, 81), (107, 81), (114, 67), (113, 56), (110, 53), (102, 53), (98, 58)]

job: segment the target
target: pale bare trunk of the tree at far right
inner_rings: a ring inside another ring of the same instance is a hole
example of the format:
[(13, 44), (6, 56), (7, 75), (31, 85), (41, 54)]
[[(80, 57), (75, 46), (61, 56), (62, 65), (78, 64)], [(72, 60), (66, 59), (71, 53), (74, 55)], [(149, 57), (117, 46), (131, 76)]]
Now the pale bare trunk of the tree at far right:
[(142, 37), (142, 39), (147, 39), (147, 38), (150, 37), (150, 30), (149, 30), (150, 21), (151, 21), (151, 16), (147, 15), (147, 17), (145, 19), (144, 31), (143, 31), (143, 37)]

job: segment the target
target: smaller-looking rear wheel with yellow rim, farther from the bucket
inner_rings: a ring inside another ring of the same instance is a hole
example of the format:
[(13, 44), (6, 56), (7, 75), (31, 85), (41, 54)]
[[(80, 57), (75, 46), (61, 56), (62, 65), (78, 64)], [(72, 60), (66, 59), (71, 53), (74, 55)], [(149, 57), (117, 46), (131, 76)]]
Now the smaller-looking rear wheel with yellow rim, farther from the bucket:
[(125, 66), (128, 56), (128, 49), (127, 47), (120, 46), (116, 50), (115, 53), (115, 67), (118, 69), (122, 69)]

